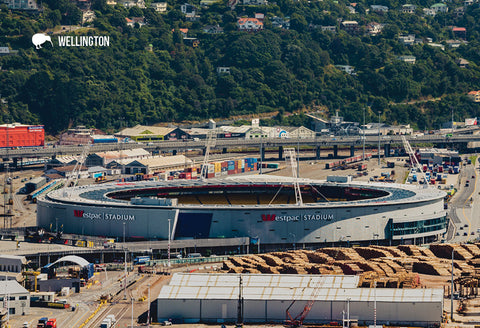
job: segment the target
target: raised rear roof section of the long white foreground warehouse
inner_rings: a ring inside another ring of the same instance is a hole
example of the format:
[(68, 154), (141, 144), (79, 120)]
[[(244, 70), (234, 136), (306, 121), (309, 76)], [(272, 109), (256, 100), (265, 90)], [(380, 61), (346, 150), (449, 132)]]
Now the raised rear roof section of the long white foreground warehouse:
[[(176, 273), (170, 286), (185, 287), (237, 287), (238, 274)], [(358, 276), (345, 275), (302, 275), (302, 274), (242, 274), (244, 287), (295, 287), (295, 288), (355, 288)]]

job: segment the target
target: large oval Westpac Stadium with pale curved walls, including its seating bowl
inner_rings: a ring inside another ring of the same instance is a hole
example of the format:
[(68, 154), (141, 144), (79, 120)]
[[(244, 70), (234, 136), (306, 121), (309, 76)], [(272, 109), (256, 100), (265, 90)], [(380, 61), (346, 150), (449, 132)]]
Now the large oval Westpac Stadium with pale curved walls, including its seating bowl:
[(42, 196), (37, 225), (71, 234), (150, 240), (168, 239), (170, 227), (176, 240), (250, 237), (272, 247), (428, 243), (446, 232), (444, 196), (421, 186), (266, 175), (118, 182)]

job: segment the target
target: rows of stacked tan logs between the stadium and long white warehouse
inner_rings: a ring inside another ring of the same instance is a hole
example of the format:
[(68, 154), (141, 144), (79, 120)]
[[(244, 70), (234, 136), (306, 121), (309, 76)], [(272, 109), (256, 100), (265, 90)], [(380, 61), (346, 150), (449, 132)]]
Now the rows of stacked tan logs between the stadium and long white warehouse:
[[(457, 259), (454, 261), (455, 275), (473, 277), (477, 275), (475, 269), (480, 274), (478, 245), (441, 244), (431, 247), (432, 251), (414, 245), (370, 246), (353, 249), (330, 247), (316, 251), (298, 250), (246, 255), (228, 258), (223, 263), (223, 271), (270, 274), (357, 274), (364, 277), (362, 279), (367, 285), (370, 284), (369, 277), (375, 277), (375, 279), (383, 279), (383, 284), (388, 286), (415, 286), (416, 283), (409, 276), (411, 274), (449, 276), (451, 270), (449, 259), (454, 249)], [(442, 258), (446, 255), (449, 256)]]

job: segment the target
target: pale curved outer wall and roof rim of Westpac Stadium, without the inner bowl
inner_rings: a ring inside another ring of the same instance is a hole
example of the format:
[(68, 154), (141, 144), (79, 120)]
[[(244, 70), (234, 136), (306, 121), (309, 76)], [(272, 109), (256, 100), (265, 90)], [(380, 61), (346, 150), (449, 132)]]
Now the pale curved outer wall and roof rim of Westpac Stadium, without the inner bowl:
[[(278, 178), (278, 177), (275, 177)], [(272, 177), (268, 178), (269, 180)], [(229, 184), (247, 180), (228, 179)], [(258, 181), (263, 181), (257, 178)], [(278, 180), (278, 179), (277, 179)], [(260, 182), (249, 183), (258, 184)], [(282, 183), (292, 183), (282, 178)], [(309, 180), (308, 183), (325, 184)], [(258, 238), (266, 244), (324, 244), (377, 241), (428, 243), (446, 232), (445, 193), (438, 189), (390, 184), (336, 184), (407, 193), (406, 197), (299, 205), (158, 205), (157, 200), (129, 201), (86, 198), (112, 190), (171, 185), (175, 182), (103, 184), (56, 190), (37, 203), (37, 225), (64, 233), (127, 239)], [(183, 182), (185, 183), (185, 182)], [(192, 181), (221, 188), (225, 180)], [(305, 180), (303, 180), (305, 183)], [(329, 183), (331, 185), (331, 183)], [(390, 195), (391, 196), (391, 195)], [(154, 204), (155, 203), (155, 204)], [(124, 231), (125, 229), (125, 231)]]

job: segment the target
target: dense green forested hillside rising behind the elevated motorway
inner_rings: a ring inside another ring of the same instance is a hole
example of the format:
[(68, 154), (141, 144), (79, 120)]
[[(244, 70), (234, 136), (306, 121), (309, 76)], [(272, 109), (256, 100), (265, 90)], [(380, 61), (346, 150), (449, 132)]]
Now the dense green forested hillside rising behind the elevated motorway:
[[(238, 114), (322, 108), (339, 110), (348, 120), (376, 120), (378, 112), (389, 123), (412, 123), (438, 128), (449, 121), (480, 116), (479, 104), (466, 94), (480, 89), (480, 7), (456, 8), (425, 15), (434, 1), (413, 1), (414, 13), (402, 13), (405, 3), (360, 0), (351, 13), (343, 0), (278, 0), (262, 6), (227, 1), (209, 7), (196, 5), (198, 21), (186, 21), (180, 11), (185, 1), (168, 0), (166, 13), (152, 8), (126, 9), (94, 0), (96, 19), (67, 35), (108, 35), (109, 47), (51, 47), (36, 50), (33, 34), (60, 24), (80, 24), (81, 12), (69, 0), (44, 1), (42, 13), (0, 11), (0, 47), (18, 50), (0, 56), (0, 122), (43, 123), (47, 132), (83, 124), (109, 130), (121, 125), (229, 117)], [(148, 4), (148, 3), (147, 3)], [(375, 12), (370, 5), (388, 6)], [(263, 13), (264, 29), (238, 31), (238, 17)], [(129, 27), (126, 18), (145, 17), (147, 25)], [(275, 27), (277, 18), (289, 19), (290, 28)], [(341, 21), (355, 20), (357, 33), (347, 33)], [(383, 25), (377, 35), (368, 24)], [(86, 27), (90, 25), (90, 27)], [(206, 26), (223, 28), (211, 34)], [(336, 26), (336, 32), (321, 26)], [(466, 41), (457, 48), (447, 40), (459, 39), (452, 27), (466, 28)], [(200, 41), (197, 47), (183, 39)], [(405, 45), (399, 35), (414, 34)], [(55, 35), (52, 35), (54, 38)], [(443, 45), (432, 46), (430, 43)], [(152, 48), (149, 48), (152, 45)], [(399, 56), (415, 56), (414, 64)], [(467, 60), (462, 68), (457, 61)], [(335, 65), (351, 65), (354, 74)], [(218, 74), (229, 67), (230, 74)], [(301, 117), (293, 123), (301, 124)]]

